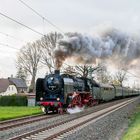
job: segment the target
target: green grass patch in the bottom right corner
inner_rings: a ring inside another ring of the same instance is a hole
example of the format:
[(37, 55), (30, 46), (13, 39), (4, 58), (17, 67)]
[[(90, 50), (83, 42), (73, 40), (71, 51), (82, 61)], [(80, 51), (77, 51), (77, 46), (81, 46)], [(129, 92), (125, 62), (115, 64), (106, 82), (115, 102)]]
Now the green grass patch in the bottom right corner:
[(122, 140), (140, 140), (140, 105), (136, 108), (134, 115), (132, 115), (128, 131)]

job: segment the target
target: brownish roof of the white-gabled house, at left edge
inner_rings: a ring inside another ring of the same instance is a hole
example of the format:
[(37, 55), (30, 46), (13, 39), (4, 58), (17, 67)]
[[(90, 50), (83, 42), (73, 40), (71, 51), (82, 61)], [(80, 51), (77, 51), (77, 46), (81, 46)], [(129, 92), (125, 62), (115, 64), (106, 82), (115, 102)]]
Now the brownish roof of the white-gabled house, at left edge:
[(5, 92), (10, 85), (10, 82), (8, 79), (0, 79), (0, 93)]

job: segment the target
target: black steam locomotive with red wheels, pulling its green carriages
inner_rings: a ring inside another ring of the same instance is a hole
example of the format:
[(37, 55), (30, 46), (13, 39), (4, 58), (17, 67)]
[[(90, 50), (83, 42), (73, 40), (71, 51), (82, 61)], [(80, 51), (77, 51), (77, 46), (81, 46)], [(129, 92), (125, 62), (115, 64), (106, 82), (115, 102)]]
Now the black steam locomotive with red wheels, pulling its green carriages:
[(93, 106), (101, 101), (139, 94), (139, 90), (101, 84), (83, 77), (60, 75), (59, 70), (36, 81), (36, 102), (45, 113), (62, 113), (66, 108)]

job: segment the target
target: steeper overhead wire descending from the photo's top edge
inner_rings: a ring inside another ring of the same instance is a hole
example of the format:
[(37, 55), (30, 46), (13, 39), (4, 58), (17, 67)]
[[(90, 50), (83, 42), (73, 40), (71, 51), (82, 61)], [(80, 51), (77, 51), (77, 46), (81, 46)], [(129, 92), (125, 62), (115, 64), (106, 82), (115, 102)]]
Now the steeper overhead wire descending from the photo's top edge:
[(34, 10), (32, 7), (30, 7), (29, 5), (27, 5), (25, 2), (23, 2), (22, 0), (19, 0), (22, 4), (24, 4), (26, 7), (28, 7), (31, 11), (33, 11), (35, 14), (37, 14), (39, 17), (41, 17), (43, 20), (45, 20), (46, 22), (48, 22), (50, 25), (52, 25), (53, 27), (55, 27), (56, 29), (58, 29), (60, 32), (62, 32), (64, 34), (64, 32), (62, 31), (62, 29), (60, 29), (57, 25), (53, 24), (50, 20), (48, 20), (48, 18), (42, 16), (39, 12), (37, 12), (36, 10)]

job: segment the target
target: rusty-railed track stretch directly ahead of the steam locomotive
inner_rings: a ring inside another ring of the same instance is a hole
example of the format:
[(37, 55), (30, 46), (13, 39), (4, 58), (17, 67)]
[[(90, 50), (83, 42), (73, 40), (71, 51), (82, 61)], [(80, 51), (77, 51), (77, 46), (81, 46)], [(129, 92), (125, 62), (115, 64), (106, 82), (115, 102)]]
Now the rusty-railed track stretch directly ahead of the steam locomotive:
[(33, 115), (33, 116), (28, 116), (28, 117), (22, 117), (22, 118), (17, 118), (17, 119), (12, 119), (9, 121), (2, 121), (0, 122), (0, 131), (2, 130), (7, 130), (13, 127), (18, 127), (21, 125), (26, 125), (26, 124), (30, 124), (36, 121), (41, 121), (41, 120), (45, 120), (45, 119), (49, 119), (52, 117), (55, 117), (58, 115), (44, 115), (44, 114), (40, 114), (40, 115)]

